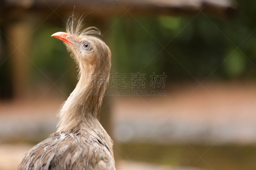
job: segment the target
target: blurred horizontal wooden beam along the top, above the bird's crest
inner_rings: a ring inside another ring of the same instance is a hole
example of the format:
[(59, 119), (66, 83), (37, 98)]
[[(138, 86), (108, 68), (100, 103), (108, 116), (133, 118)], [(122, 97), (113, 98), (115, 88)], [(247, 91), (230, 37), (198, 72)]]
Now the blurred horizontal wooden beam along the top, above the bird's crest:
[(23, 12), (45, 12), (56, 8), (57, 11), (70, 13), (76, 5), (76, 12), (89, 8), (94, 15), (101, 17), (123, 15), (128, 9), (133, 15), (185, 15), (203, 10), (219, 17), (228, 17), (237, 9), (235, 0), (27, 0), (26, 3), (4, 0), (0, 5), (2, 13), (15, 9)]

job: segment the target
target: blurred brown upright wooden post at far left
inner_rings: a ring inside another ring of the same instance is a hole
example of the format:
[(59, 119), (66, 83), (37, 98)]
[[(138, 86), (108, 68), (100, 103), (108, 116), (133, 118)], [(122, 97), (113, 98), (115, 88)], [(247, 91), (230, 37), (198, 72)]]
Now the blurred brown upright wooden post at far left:
[(11, 57), (13, 97), (24, 99), (29, 92), (28, 53), (30, 52), (29, 22), (19, 21), (7, 26), (8, 54)]

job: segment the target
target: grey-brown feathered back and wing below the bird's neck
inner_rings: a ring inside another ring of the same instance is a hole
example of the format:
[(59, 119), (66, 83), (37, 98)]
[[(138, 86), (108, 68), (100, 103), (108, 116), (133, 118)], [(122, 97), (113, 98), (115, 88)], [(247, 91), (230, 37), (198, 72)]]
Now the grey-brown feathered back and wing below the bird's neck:
[(115, 170), (108, 148), (83, 134), (58, 133), (25, 154), (18, 170)]

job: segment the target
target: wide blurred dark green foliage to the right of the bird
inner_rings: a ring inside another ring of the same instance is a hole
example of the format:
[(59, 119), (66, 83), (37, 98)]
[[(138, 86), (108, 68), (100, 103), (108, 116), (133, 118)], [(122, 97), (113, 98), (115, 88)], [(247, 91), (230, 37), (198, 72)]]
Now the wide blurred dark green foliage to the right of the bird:
[(255, 77), (256, 15), (245, 3), (239, 2), (239, 14), (225, 20), (203, 14), (114, 18), (110, 33), (114, 70), (166, 72), (170, 80)]

